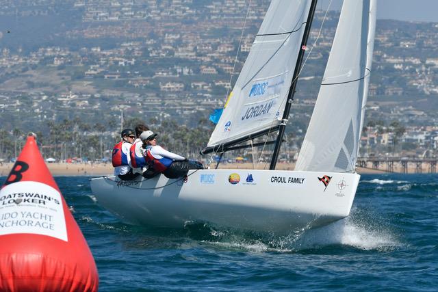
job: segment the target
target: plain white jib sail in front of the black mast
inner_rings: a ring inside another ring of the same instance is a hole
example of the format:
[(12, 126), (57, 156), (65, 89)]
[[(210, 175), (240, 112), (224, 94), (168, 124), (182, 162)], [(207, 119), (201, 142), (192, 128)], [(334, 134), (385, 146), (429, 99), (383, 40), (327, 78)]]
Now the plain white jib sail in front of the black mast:
[(355, 172), (375, 22), (376, 0), (344, 1), (296, 170)]

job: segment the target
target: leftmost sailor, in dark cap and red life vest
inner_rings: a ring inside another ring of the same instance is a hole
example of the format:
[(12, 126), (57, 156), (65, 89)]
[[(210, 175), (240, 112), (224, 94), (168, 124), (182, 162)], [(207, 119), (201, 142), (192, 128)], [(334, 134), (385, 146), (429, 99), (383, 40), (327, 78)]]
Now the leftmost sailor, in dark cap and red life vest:
[(112, 150), (112, 165), (114, 166), (114, 175), (124, 181), (129, 181), (139, 175), (133, 174), (129, 166), (131, 163), (129, 148), (136, 139), (136, 135), (132, 129), (124, 129), (120, 136), (122, 141), (118, 142)]

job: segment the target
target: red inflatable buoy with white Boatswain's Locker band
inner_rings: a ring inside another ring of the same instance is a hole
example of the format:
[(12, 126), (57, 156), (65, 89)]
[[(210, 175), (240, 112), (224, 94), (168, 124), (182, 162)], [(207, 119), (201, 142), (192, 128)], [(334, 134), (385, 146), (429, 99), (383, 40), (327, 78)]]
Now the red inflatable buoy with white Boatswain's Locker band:
[(97, 291), (96, 263), (27, 137), (0, 190), (0, 291)]

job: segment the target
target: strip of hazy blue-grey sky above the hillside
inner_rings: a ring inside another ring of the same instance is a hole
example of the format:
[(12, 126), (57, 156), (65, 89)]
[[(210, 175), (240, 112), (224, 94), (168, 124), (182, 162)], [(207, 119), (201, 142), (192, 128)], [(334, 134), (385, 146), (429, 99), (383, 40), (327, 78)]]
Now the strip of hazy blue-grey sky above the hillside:
[[(329, 3), (330, 0), (318, 0), (318, 8), (324, 8)], [(341, 5), (342, 0), (333, 0), (330, 7), (340, 10)], [(377, 0), (377, 18), (438, 23), (438, 0)]]

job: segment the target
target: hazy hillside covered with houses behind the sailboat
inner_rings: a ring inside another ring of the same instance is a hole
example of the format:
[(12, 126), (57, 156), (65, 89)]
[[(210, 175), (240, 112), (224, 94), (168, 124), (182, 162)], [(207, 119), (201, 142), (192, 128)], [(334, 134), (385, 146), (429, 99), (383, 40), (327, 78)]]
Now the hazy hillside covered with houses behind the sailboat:
[[(214, 125), (200, 120), (224, 105), (269, 2), (3, 1), (0, 157), (14, 156), (14, 133), (49, 137), (73, 120), (81, 135), (106, 133), (92, 143), (107, 150), (122, 116), (202, 124), (206, 142)], [(292, 105), (290, 153), (305, 135), (339, 12), (324, 15), (316, 13)], [(378, 20), (361, 154), (436, 155), (437, 110), (438, 23)]]

